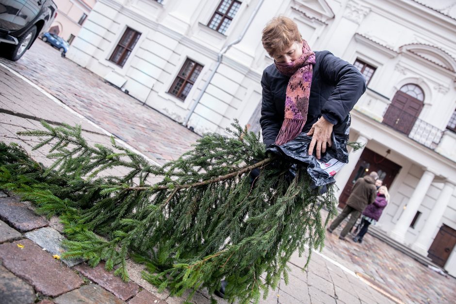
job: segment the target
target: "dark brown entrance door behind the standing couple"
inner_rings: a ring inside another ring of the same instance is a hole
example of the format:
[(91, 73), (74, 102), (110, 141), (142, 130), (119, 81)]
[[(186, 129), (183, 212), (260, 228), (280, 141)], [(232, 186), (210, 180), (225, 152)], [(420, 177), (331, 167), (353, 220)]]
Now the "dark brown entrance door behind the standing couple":
[(345, 207), (348, 196), (352, 191), (353, 184), (359, 177), (363, 177), (366, 174), (369, 174), (369, 172), (375, 171), (378, 173), (379, 178), (383, 180), (383, 185), (390, 188), (401, 168), (401, 166), (388, 160), (386, 157), (381, 156), (368, 148), (364, 148), (361, 157), (355, 166), (355, 170), (353, 170), (339, 197), (339, 207)]

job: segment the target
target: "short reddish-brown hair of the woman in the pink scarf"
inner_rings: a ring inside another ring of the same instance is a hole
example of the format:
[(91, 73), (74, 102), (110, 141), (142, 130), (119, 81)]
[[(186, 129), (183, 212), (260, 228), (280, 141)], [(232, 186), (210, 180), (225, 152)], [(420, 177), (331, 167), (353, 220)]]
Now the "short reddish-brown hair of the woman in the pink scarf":
[(278, 16), (269, 21), (261, 36), (263, 48), (271, 57), (277, 52), (284, 51), (294, 41), (302, 41), (301, 33), (297, 24), (285, 16)]

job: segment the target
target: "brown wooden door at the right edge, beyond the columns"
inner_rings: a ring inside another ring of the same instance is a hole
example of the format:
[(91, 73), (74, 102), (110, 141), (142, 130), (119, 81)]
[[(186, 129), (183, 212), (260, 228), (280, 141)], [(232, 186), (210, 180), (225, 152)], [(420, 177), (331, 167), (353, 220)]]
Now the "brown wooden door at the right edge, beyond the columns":
[(427, 251), (427, 256), (429, 256), (437, 265), (444, 267), (455, 244), (456, 230), (443, 224), (432, 242), (431, 247)]

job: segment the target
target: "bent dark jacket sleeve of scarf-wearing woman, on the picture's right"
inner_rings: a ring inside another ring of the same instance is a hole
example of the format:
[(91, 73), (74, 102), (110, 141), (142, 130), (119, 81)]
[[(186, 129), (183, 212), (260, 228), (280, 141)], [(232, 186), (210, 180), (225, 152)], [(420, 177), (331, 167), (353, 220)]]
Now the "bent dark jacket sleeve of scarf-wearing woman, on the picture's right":
[(322, 108), (322, 115), (331, 124), (337, 125), (366, 91), (366, 80), (355, 66), (331, 53), (323, 57), (320, 73), (326, 81), (334, 84), (334, 91)]

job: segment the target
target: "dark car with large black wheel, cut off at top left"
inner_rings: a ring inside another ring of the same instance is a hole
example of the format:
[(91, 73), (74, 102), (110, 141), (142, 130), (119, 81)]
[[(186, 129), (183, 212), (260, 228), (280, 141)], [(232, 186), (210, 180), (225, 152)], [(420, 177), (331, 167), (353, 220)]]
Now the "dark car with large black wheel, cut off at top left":
[(16, 61), (57, 16), (52, 0), (0, 0), (0, 54)]

